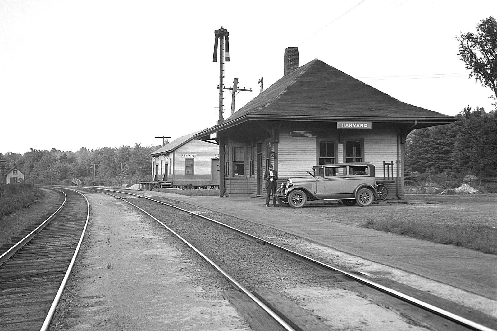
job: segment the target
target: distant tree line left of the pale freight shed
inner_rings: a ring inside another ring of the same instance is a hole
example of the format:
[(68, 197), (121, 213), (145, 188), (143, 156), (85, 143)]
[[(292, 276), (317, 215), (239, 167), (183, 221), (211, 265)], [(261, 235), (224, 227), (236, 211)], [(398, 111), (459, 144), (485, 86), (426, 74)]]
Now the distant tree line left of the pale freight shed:
[[(78, 152), (30, 149), (25, 154), (7, 153), (2, 157), (8, 170), (16, 166), (27, 182), (43, 184), (70, 184), (76, 177), (85, 184), (119, 185), (135, 184), (140, 180), (152, 179), (150, 153), (161, 146), (133, 148), (99, 148), (89, 150), (82, 147)], [(122, 172), (121, 172), (122, 164)]]

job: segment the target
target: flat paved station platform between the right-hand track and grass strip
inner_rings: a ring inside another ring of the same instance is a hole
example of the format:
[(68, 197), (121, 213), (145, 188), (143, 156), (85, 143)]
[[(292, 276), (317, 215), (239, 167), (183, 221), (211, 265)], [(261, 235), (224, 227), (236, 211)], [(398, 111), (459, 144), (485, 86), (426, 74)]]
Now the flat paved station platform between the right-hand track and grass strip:
[[(306, 213), (306, 208), (314, 209), (310, 207), (293, 209), (291, 207), (274, 208), (270, 205), (269, 208), (265, 208), (264, 199), (190, 197), (156, 191), (146, 193), (191, 203), (266, 225), (346, 254), (477, 294), (491, 299), (497, 316), (497, 255), (350, 226), (333, 221), (333, 219), (326, 219), (326, 222), (323, 222), (324, 220), (320, 220), (315, 213), (312, 213), (312, 216)], [(422, 200), (409, 199), (406, 202), (427, 203)], [(369, 207), (364, 209), (366, 208)]]

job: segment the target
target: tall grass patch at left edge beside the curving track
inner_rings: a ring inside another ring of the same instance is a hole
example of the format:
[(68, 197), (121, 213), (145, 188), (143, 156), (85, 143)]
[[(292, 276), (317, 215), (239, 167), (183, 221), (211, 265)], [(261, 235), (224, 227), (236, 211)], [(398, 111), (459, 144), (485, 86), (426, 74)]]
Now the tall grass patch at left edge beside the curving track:
[(33, 184), (0, 185), (0, 218), (27, 208), (43, 195)]

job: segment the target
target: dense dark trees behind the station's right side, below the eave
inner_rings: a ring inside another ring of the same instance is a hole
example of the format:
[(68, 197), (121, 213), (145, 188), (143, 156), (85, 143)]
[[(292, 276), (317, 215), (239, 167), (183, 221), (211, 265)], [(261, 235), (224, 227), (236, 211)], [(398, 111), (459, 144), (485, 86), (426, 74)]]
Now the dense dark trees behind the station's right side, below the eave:
[(405, 176), (416, 180), (462, 180), (467, 174), (497, 177), (497, 112), (466, 107), (452, 124), (417, 129), (407, 137)]

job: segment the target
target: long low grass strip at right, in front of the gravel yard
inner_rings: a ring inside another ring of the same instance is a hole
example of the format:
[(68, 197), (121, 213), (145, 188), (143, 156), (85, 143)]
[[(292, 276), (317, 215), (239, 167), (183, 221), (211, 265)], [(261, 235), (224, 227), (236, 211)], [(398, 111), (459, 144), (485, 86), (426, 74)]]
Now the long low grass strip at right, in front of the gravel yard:
[(439, 244), (461, 246), (484, 253), (497, 254), (497, 228), (490, 225), (368, 219), (364, 226)]

